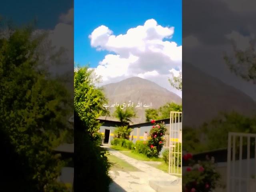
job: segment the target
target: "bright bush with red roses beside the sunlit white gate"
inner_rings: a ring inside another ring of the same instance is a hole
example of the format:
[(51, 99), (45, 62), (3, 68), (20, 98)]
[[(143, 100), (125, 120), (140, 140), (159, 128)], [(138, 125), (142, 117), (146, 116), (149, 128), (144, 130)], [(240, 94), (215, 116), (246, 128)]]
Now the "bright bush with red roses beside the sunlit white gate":
[(154, 124), (150, 130), (150, 138), (148, 140), (148, 157), (158, 157), (159, 152), (162, 150), (164, 145), (164, 134), (166, 132), (166, 127), (164, 123), (156, 124), (155, 120), (151, 121)]

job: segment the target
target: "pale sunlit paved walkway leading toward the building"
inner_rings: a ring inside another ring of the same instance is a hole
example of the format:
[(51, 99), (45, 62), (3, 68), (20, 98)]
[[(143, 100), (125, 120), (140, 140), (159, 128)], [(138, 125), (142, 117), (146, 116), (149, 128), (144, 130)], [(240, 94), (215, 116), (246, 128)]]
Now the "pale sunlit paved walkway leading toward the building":
[(154, 168), (143, 161), (130, 158), (117, 150), (108, 146), (103, 146), (109, 150), (109, 153), (128, 162), (132, 166), (141, 170), (141, 172), (111, 171), (110, 176), (113, 183), (110, 184), (110, 192), (156, 192), (149, 186), (149, 181), (174, 181), (176, 176), (172, 176), (157, 168)]

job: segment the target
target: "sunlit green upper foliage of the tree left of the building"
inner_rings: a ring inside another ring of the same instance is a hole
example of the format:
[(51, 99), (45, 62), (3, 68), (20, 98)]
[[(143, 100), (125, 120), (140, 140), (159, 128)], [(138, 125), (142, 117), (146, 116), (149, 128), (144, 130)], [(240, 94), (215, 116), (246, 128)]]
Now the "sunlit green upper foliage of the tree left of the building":
[(97, 118), (106, 111), (103, 104), (107, 102), (102, 90), (94, 85), (96, 82), (94, 71), (87, 66), (74, 72), (74, 110), (93, 140), (100, 128)]

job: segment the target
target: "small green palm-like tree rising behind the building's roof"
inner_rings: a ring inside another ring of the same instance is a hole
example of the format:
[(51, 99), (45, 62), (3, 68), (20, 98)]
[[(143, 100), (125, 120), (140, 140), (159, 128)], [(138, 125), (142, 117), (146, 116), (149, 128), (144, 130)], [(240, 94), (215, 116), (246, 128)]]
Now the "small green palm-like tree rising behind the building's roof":
[(125, 110), (116, 107), (113, 116), (118, 118), (122, 123), (132, 122), (131, 118), (136, 117), (136, 112), (132, 107), (127, 107)]

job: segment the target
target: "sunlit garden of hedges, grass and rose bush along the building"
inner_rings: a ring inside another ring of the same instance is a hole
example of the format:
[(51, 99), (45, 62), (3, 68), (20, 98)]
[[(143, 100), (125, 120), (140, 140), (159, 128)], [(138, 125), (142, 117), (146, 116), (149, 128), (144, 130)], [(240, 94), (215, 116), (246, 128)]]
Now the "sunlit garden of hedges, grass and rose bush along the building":
[[(162, 157), (160, 157), (160, 152), (164, 146), (164, 134), (166, 132), (166, 126), (164, 122), (156, 124), (155, 120), (151, 121), (152, 128), (150, 130), (150, 137), (147, 141), (137, 140), (135, 143), (128, 140), (128, 135), (131, 130), (126, 127), (118, 127), (115, 131), (117, 137), (111, 141), (111, 147), (115, 150), (119, 150), (122, 154), (141, 161), (156, 161), (159, 164), (150, 164), (155, 168), (168, 172), (169, 164), (169, 149), (162, 152)], [(179, 147), (178, 147), (179, 145)], [(181, 144), (176, 144), (176, 151), (181, 152)], [(178, 162), (179, 167), (178, 173), (181, 173), (181, 155), (175, 156), (175, 161)]]

